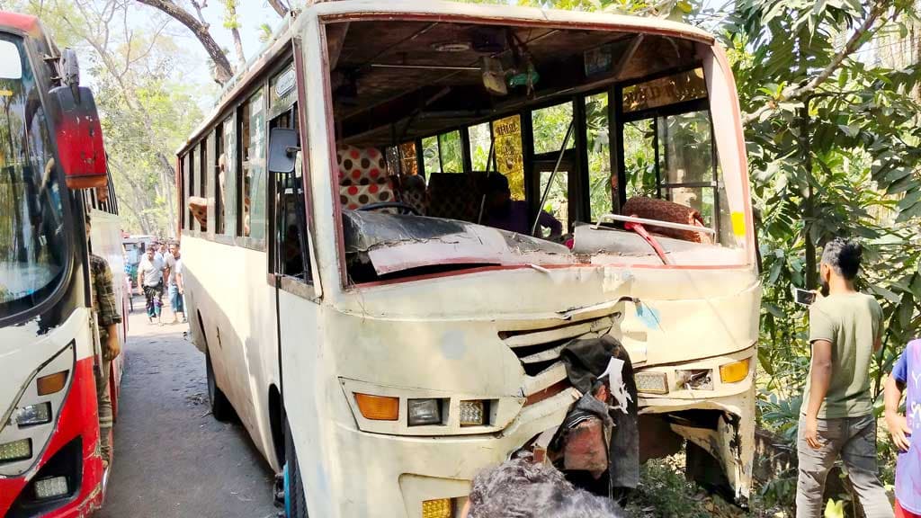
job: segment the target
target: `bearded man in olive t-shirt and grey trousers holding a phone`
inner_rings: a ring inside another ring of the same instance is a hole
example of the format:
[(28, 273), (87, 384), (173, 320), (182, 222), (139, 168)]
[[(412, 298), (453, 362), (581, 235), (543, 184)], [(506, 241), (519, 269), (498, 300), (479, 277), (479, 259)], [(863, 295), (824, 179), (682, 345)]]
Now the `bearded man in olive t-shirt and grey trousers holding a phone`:
[(854, 288), (862, 249), (835, 239), (822, 253), (822, 291), (810, 307), (812, 363), (799, 419), (797, 518), (820, 518), (825, 478), (841, 455), (868, 518), (891, 518), (880, 483), (869, 362), (880, 347), (882, 310)]

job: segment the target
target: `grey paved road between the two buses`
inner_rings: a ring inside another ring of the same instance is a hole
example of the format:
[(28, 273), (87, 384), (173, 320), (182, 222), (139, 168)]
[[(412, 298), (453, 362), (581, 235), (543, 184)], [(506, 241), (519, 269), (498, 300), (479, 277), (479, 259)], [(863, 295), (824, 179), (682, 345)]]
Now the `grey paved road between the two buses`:
[(273, 474), (242, 426), (211, 416), (204, 356), (182, 337), (188, 325), (147, 324), (141, 298), (134, 308), (109, 490), (95, 518), (274, 517)]

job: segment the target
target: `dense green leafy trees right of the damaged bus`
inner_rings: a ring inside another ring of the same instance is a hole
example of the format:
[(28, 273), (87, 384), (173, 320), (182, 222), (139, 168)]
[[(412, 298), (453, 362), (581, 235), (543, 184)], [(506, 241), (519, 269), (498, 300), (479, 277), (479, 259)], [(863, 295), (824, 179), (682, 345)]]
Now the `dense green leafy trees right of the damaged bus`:
[[(742, 111), (757, 115), (746, 139), (764, 262), (759, 424), (789, 444), (810, 366), (807, 314), (790, 288), (816, 287), (825, 242), (849, 236), (865, 245), (859, 288), (876, 296), (885, 319), (871, 367), (874, 396), (921, 325), (921, 132), (913, 95), (921, 68), (859, 59), (875, 35), (917, 19), (904, 3), (874, 6), (738, 0), (721, 34)], [(892, 460), (886, 444), (880, 441), (880, 458)], [(763, 498), (790, 502), (793, 479), (778, 474)]]

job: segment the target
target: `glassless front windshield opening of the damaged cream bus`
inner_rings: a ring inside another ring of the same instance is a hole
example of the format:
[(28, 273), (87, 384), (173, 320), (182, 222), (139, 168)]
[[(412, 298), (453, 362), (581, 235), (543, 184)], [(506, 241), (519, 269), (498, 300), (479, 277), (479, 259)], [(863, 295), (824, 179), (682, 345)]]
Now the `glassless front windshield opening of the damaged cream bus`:
[(750, 263), (733, 87), (710, 44), (416, 20), (327, 30), (356, 283)]

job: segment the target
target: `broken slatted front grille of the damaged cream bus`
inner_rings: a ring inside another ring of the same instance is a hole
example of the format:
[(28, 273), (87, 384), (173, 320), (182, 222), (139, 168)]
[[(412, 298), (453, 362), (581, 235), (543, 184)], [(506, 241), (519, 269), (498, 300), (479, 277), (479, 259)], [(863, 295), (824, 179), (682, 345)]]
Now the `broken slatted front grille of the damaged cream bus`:
[(522, 392), (533, 405), (569, 386), (560, 352), (577, 338), (601, 336), (611, 330), (612, 316), (569, 322), (537, 329), (500, 331), (499, 338), (512, 349), (527, 378)]

